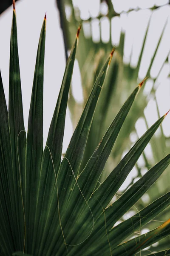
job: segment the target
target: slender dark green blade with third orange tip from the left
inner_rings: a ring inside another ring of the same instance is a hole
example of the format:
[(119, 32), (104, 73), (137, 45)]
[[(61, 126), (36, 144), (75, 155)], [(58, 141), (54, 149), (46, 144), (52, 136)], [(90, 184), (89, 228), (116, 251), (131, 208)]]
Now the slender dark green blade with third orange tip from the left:
[[(40, 172), (40, 183), (38, 188), (38, 196), (37, 196), (37, 210), (35, 216), (35, 230), (39, 231), (42, 235), (40, 237), (40, 247), (38, 248), (38, 252), (41, 251), (43, 247), (48, 232), (50, 230), (51, 220), (54, 218), (57, 209), (57, 200), (55, 197), (55, 201), (53, 198), (54, 192), (56, 193), (56, 180), (54, 175), (54, 169), (57, 176), (59, 165), (61, 161), (62, 154), (62, 141), (64, 135), (64, 127), (65, 127), (65, 114), (66, 107), (68, 102), (68, 92), (71, 84), (71, 77), (74, 68), (74, 60), (77, 51), (77, 45), (79, 41), (79, 31), (80, 27), (77, 31), (77, 36), (73, 47), (71, 49), (70, 56), (68, 58), (65, 73), (62, 79), (61, 89), (59, 91), (59, 96), (57, 100), (57, 104), (54, 110), (53, 118), (51, 121), (51, 125), (48, 132), (48, 139), (46, 143), (46, 147), (44, 149), (43, 157), (42, 157), (42, 167)], [(53, 161), (52, 161), (52, 160)], [(54, 165), (54, 166), (53, 166)], [(55, 191), (54, 191), (55, 189)], [(41, 191), (43, 191), (43, 197), (41, 196)], [(48, 211), (47, 211), (48, 209)], [(44, 214), (46, 212), (47, 215)], [(40, 220), (40, 223), (39, 223)], [(57, 215), (58, 221), (58, 215)], [(35, 232), (35, 235), (36, 235)], [(36, 246), (33, 243), (33, 251)], [(44, 252), (43, 252), (44, 253)]]

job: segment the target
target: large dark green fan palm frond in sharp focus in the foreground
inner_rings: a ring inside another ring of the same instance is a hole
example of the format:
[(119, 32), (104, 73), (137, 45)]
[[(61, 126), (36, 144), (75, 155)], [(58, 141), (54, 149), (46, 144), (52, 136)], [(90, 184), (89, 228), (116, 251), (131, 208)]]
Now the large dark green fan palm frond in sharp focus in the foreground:
[[(15, 7), (15, 6), (14, 6)], [(43, 70), (46, 16), (37, 50), (28, 133), (24, 130), (16, 13), (13, 10), (10, 50), (9, 109), (0, 76), (0, 255), (133, 255), (170, 234), (170, 221), (124, 243), (170, 204), (170, 192), (117, 227), (113, 227), (159, 178), (170, 154), (153, 166), (117, 201), (108, 206), (151, 137), (167, 115), (151, 126), (105, 181), (98, 185), (119, 131), (142, 81), (125, 101), (88, 163), (79, 172), (96, 105), (107, 79), (111, 54), (94, 82), (82, 116), (61, 161), (68, 93), (79, 31), (71, 49), (59, 97), (43, 150)], [(102, 63), (102, 62), (101, 62)], [(100, 65), (101, 65), (100, 63)], [(111, 84), (109, 84), (109, 87)], [(119, 138), (118, 138), (119, 139)], [(123, 243), (122, 243), (123, 242)], [(122, 243), (122, 244), (121, 244)], [(126, 254), (125, 254), (126, 255)]]

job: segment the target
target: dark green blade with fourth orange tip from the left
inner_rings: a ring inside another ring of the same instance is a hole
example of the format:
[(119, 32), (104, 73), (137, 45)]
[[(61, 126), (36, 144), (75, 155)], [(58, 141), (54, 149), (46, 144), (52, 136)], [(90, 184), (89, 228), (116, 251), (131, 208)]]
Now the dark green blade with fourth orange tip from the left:
[[(82, 116), (79, 120), (79, 123), (77, 125), (77, 128), (74, 131), (74, 134), (71, 138), (70, 144), (68, 146), (68, 149), (65, 153), (65, 157), (62, 160), (62, 163), (60, 165), (59, 174), (58, 174), (58, 187), (59, 187), (59, 205), (60, 205), (60, 215), (62, 216), (62, 227), (65, 227), (65, 224), (68, 221), (69, 211), (65, 211), (66, 207), (69, 207), (69, 210), (74, 207), (74, 205), (68, 204), (69, 197), (71, 195), (71, 191), (75, 184), (75, 177), (77, 177), (77, 174), (79, 172), (79, 166), (82, 161), (83, 152), (85, 149), (85, 144), (88, 138), (88, 133), (91, 127), (91, 122), (94, 116), (94, 111), (96, 108), (96, 104), (99, 99), (99, 95), (102, 89), (102, 85), (105, 80), (105, 76), (108, 70), (108, 67), (110, 65), (112, 56), (113, 56), (114, 49), (112, 50), (111, 54), (107, 58), (105, 64), (103, 65), (99, 76), (96, 79), (96, 82), (94, 84), (94, 87), (91, 91), (91, 94), (88, 98), (88, 101), (85, 105), (84, 111), (82, 113)], [(74, 170), (74, 175), (72, 174), (72, 170)], [(72, 174), (72, 175), (71, 175)], [(67, 191), (67, 193), (64, 193)], [(85, 201), (84, 201), (85, 204)], [(52, 227), (52, 230), (55, 232), (54, 226)], [(61, 235), (61, 228), (58, 227), (56, 231), (56, 236), (60, 235), (60, 239), (58, 241), (59, 244), (63, 243), (63, 237)], [(54, 246), (55, 238), (53, 238), (51, 242), (51, 247)], [(59, 246), (58, 244), (55, 244), (55, 247), (57, 248)], [(65, 246), (65, 245), (64, 245)], [(61, 250), (63, 247), (61, 248)], [(64, 247), (65, 249), (65, 247)]]

